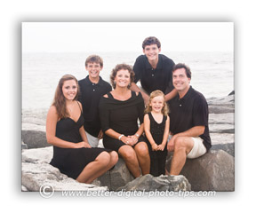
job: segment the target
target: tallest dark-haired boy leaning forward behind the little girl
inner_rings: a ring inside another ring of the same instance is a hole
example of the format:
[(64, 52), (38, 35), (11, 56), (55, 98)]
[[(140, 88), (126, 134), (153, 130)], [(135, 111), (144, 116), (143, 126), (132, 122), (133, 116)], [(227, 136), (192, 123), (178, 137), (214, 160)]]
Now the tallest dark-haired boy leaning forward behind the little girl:
[[(177, 94), (172, 85), (174, 62), (159, 54), (161, 43), (154, 36), (146, 38), (142, 43), (142, 48), (145, 55), (140, 55), (133, 66), (135, 80), (132, 83), (132, 91), (140, 91), (145, 103), (148, 103), (149, 94), (156, 90), (164, 92), (166, 101), (172, 99)], [(138, 81), (143, 90), (136, 85)]]

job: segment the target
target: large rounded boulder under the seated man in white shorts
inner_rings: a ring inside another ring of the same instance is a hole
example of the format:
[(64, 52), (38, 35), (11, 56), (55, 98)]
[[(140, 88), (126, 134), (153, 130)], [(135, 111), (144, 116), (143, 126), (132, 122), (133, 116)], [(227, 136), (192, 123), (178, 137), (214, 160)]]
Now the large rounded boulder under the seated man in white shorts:
[[(166, 162), (166, 170), (170, 170), (171, 159)], [(233, 192), (235, 159), (223, 150), (211, 150), (202, 157), (187, 159), (180, 175), (188, 178), (192, 191)]]

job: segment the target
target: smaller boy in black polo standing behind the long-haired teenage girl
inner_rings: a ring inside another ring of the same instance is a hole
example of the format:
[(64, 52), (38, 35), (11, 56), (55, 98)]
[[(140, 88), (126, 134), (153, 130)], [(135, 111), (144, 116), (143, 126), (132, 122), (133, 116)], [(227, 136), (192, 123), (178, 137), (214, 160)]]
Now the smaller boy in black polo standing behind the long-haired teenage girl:
[(78, 82), (80, 89), (78, 100), (83, 106), (84, 130), (89, 144), (97, 147), (100, 138), (103, 137), (102, 130), (100, 130), (100, 98), (108, 91), (112, 91), (112, 87), (100, 77), (100, 71), (103, 68), (103, 60), (100, 56), (89, 56), (85, 60), (85, 68), (89, 75)]

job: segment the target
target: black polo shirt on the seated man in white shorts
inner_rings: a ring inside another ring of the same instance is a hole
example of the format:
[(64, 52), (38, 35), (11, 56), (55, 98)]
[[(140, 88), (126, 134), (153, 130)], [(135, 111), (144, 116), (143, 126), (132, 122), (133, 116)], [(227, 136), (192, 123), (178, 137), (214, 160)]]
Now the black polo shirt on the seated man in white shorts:
[(212, 146), (208, 127), (208, 104), (203, 94), (190, 86), (186, 95), (180, 99), (179, 94), (170, 102), (170, 130), (175, 135), (195, 126), (205, 126), (204, 146), (209, 150)]

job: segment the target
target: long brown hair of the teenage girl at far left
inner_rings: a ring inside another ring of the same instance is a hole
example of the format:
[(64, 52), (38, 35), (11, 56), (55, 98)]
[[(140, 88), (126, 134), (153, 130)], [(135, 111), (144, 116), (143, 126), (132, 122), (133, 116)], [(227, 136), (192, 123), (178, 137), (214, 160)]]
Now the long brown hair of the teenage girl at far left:
[(68, 111), (66, 109), (66, 99), (65, 99), (65, 97), (63, 95), (63, 91), (62, 91), (62, 86), (63, 86), (64, 82), (66, 82), (68, 80), (75, 80), (76, 81), (77, 93), (76, 93), (75, 99), (77, 99), (77, 97), (78, 97), (79, 86), (78, 86), (78, 82), (77, 82), (76, 77), (73, 76), (73, 75), (63, 75), (60, 78), (60, 81), (59, 81), (58, 86), (57, 86), (56, 91), (55, 91), (54, 99), (52, 101), (52, 106), (56, 107), (57, 114), (58, 114), (60, 119), (69, 116)]

